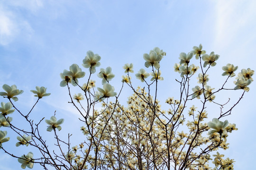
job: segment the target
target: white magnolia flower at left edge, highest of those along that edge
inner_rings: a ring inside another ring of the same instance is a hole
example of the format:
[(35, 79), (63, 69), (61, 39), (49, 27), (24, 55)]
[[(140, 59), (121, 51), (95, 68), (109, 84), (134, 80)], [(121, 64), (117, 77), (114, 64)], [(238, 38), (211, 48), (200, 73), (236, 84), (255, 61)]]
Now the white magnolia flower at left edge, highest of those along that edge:
[(3, 89), (6, 92), (0, 92), (0, 95), (7, 96), (8, 99), (12, 99), (15, 102), (18, 101), (18, 97), (14, 97), (14, 96), (23, 93), (23, 90), (18, 90), (16, 85), (9, 86), (9, 85), (4, 84)]

